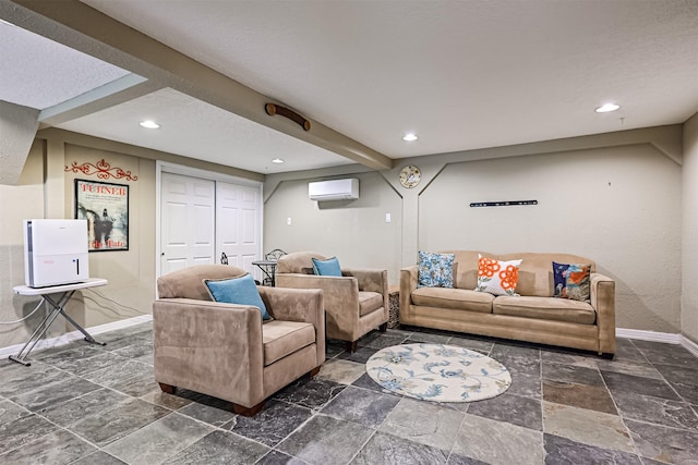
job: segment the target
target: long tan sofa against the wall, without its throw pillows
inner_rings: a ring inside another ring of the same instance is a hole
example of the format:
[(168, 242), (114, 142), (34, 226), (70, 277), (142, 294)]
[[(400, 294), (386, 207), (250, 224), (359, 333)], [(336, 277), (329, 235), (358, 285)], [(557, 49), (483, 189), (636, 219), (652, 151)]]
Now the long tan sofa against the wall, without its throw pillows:
[[(455, 254), (454, 289), (418, 287), (418, 267), (400, 270), (400, 323), (559, 345), (612, 357), (615, 353), (615, 282), (595, 264), (568, 254)], [(473, 291), (478, 255), (522, 259), (516, 291), (494, 296)], [(591, 302), (553, 297), (552, 262), (591, 265)]]

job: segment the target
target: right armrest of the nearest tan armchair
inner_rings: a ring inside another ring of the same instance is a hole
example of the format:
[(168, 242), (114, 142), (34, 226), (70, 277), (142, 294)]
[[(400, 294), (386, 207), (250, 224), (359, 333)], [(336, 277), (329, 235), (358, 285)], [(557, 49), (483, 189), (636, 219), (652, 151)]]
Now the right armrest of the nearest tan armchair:
[(325, 362), (325, 306), (320, 289), (260, 286), (260, 295), (277, 320), (312, 323), (317, 344), (317, 366)]

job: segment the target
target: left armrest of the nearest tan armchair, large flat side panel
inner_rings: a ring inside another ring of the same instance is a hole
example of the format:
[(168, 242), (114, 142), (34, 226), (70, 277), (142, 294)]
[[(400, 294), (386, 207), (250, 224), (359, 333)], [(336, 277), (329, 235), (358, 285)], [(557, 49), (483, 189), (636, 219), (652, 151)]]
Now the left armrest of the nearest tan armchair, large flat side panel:
[(244, 406), (264, 399), (262, 314), (256, 307), (190, 298), (156, 301), (153, 347), (158, 382)]

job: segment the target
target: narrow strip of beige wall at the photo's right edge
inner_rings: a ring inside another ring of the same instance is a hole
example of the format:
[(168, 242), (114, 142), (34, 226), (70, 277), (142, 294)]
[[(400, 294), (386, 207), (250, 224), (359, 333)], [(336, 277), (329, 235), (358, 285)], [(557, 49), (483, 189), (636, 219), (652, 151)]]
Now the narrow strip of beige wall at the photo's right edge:
[(681, 326), (698, 344), (698, 113), (684, 124)]

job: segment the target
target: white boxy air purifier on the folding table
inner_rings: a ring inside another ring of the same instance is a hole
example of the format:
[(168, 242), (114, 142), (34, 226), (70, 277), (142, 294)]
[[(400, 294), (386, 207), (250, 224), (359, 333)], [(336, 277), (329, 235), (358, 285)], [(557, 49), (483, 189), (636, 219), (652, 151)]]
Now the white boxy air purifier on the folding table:
[(24, 220), (24, 278), (29, 287), (87, 281), (87, 220)]

